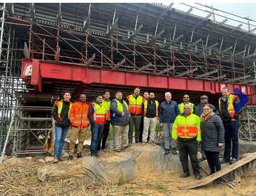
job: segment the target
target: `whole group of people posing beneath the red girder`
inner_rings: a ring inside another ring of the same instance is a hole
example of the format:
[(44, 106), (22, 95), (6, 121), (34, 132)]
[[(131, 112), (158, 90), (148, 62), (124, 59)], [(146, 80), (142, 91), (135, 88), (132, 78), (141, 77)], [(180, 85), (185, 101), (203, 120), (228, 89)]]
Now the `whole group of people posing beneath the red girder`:
[[(64, 139), (69, 127), (72, 127), (69, 145), (69, 160), (73, 159), (74, 146), (78, 138), (77, 157), (82, 157), (83, 142), (88, 126), (91, 125), (91, 156), (98, 156), (98, 151), (106, 151), (106, 140), (110, 124), (113, 126), (113, 148), (120, 152), (131, 146), (135, 129), (135, 143), (145, 146), (149, 142), (155, 146), (155, 129), (157, 119), (164, 130), (165, 155), (171, 151), (177, 154), (183, 167), (181, 178), (190, 176), (188, 156), (190, 156), (195, 179), (201, 179), (199, 162), (208, 161), (211, 174), (220, 171), (221, 163), (236, 163), (239, 153), (239, 118), (240, 112), (234, 107), (239, 98), (230, 93), (230, 89), (222, 89), (222, 97), (218, 100), (217, 110), (208, 103), (208, 96), (201, 96), (199, 105), (190, 103), (190, 96), (183, 96), (183, 103), (171, 100), (171, 93), (165, 93), (165, 101), (159, 104), (155, 93), (145, 92), (140, 96), (140, 88), (122, 98), (122, 92), (115, 93), (110, 100), (110, 91), (98, 95), (90, 105), (85, 103), (86, 96), (80, 95), (78, 103), (71, 103), (71, 93), (66, 91), (64, 99), (55, 103), (52, 116), (55, 119), (54, 163), (62, 158)], [(120, 135), (122, 137), (120, 138)], [(221, 147), (225, 142), (225, 153), (219, 159)], [(201, 144), (201, 158), (197, 159), (198, 145)], [(232, 146), (232, 160), (230, 152)], [(220, 183), (216, 179), (215, 183)]]

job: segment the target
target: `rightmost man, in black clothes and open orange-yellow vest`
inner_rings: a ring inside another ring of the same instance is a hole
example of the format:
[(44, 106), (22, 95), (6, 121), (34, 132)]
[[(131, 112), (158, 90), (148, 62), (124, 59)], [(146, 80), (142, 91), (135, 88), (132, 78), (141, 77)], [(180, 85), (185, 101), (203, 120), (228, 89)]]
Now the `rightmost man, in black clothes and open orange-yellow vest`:
[[(222, 98), (219, 99), (218, 110), (222, 118), (225, 128), (225, 151), (224, 158), (220, 163), (236, 163), (239, 157), (239, 118), (241, 112), (236, 112), (234, 107), (240, 102), (237, 96), (230, 93), (230, 89), (224, 87), (222, 89)], [(232, 143), (232, 145), (231, 145)], [(232, 146), (232, 160), (230, 160), (230, 152)]]

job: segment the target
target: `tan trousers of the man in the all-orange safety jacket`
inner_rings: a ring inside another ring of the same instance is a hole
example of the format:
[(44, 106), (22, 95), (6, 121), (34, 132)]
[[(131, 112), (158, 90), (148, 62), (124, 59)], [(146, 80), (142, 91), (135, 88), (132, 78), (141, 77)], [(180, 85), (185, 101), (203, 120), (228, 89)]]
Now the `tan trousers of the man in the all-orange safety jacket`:
[(77, 139), (78, 139), (78, 153), (82, 152), (83, 142), (85, 142), (87, 128), (88, 128), (88, 126), (86, 126), (84, 128), (76, 128), (76, 127), (72, 126), (72, 133), (71, 133), (70, 143), (69, 143), (69, 155), (70, 156), (73, 156)]

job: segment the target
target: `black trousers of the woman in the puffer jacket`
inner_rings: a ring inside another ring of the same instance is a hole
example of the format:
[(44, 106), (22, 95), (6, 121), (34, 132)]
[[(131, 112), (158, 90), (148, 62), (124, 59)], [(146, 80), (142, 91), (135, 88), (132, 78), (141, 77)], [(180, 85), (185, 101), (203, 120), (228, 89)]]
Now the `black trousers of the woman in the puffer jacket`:
[(220, 165), (220, 159), (219, 159), (219, 152), (211, 152), (211, 151), (204, 151), (206, 154), (207, 162), (211, 170), (211, 174), (220, 171), (221, 165)]

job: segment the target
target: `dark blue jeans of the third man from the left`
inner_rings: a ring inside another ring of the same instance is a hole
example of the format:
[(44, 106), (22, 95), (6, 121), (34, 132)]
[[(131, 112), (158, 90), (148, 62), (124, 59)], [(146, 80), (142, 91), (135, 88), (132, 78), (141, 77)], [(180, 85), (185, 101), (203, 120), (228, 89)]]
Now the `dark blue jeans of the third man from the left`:
[(98, 142), (101, 139), (101, 134), (104, 128), (104, 124), (91, 125), (92, 141), (91, 141), (91, 156), (95, 156), (98, 152)]

